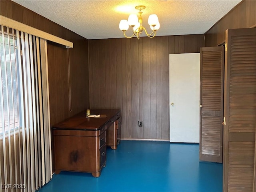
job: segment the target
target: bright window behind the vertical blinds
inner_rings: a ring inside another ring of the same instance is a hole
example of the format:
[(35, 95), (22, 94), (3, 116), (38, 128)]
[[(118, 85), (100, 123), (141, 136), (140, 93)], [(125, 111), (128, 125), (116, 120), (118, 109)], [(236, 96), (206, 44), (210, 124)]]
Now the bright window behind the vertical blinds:
[[(20, 84), (18, 72), (17, 39), (14, 30), (0, 32), (0, 137), (18, 128), (20, 121)], [(10, 121), (10, 124), (8, 123)]]

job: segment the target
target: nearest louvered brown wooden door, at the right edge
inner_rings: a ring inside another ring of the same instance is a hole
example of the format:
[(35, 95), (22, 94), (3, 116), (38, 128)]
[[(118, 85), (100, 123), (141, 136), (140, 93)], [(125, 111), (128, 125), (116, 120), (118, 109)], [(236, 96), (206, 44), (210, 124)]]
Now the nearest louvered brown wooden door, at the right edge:
[(252, 192), (256, 116), (256, 28), (226, 31), (224, 192)]

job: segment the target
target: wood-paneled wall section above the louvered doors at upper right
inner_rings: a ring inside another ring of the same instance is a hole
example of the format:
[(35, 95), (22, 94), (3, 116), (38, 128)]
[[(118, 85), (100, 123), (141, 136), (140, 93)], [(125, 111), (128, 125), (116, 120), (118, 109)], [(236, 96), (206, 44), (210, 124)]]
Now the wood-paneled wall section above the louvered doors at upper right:
[(205, 33), (205, 46), (217, 46), (225, 41), (227, 29), (250, 28), (256, 25), (256, 1), (244, 0)]

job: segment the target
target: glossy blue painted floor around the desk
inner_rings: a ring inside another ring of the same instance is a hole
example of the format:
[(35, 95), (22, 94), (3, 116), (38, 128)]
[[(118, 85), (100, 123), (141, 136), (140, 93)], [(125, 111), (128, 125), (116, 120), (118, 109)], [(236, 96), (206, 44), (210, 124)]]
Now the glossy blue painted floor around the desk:
[(39, 192), (222, 192), (222, 164), (199, 162), (198, 144), (121, 141), (99, 178), (61, 172)]

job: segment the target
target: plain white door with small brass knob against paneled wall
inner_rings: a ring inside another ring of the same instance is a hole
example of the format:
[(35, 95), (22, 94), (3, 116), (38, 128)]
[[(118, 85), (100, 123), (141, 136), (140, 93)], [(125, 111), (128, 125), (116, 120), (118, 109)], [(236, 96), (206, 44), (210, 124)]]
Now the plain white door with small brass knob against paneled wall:
[(199, 143), (200, 53), (170, 54), (170, 142)]

